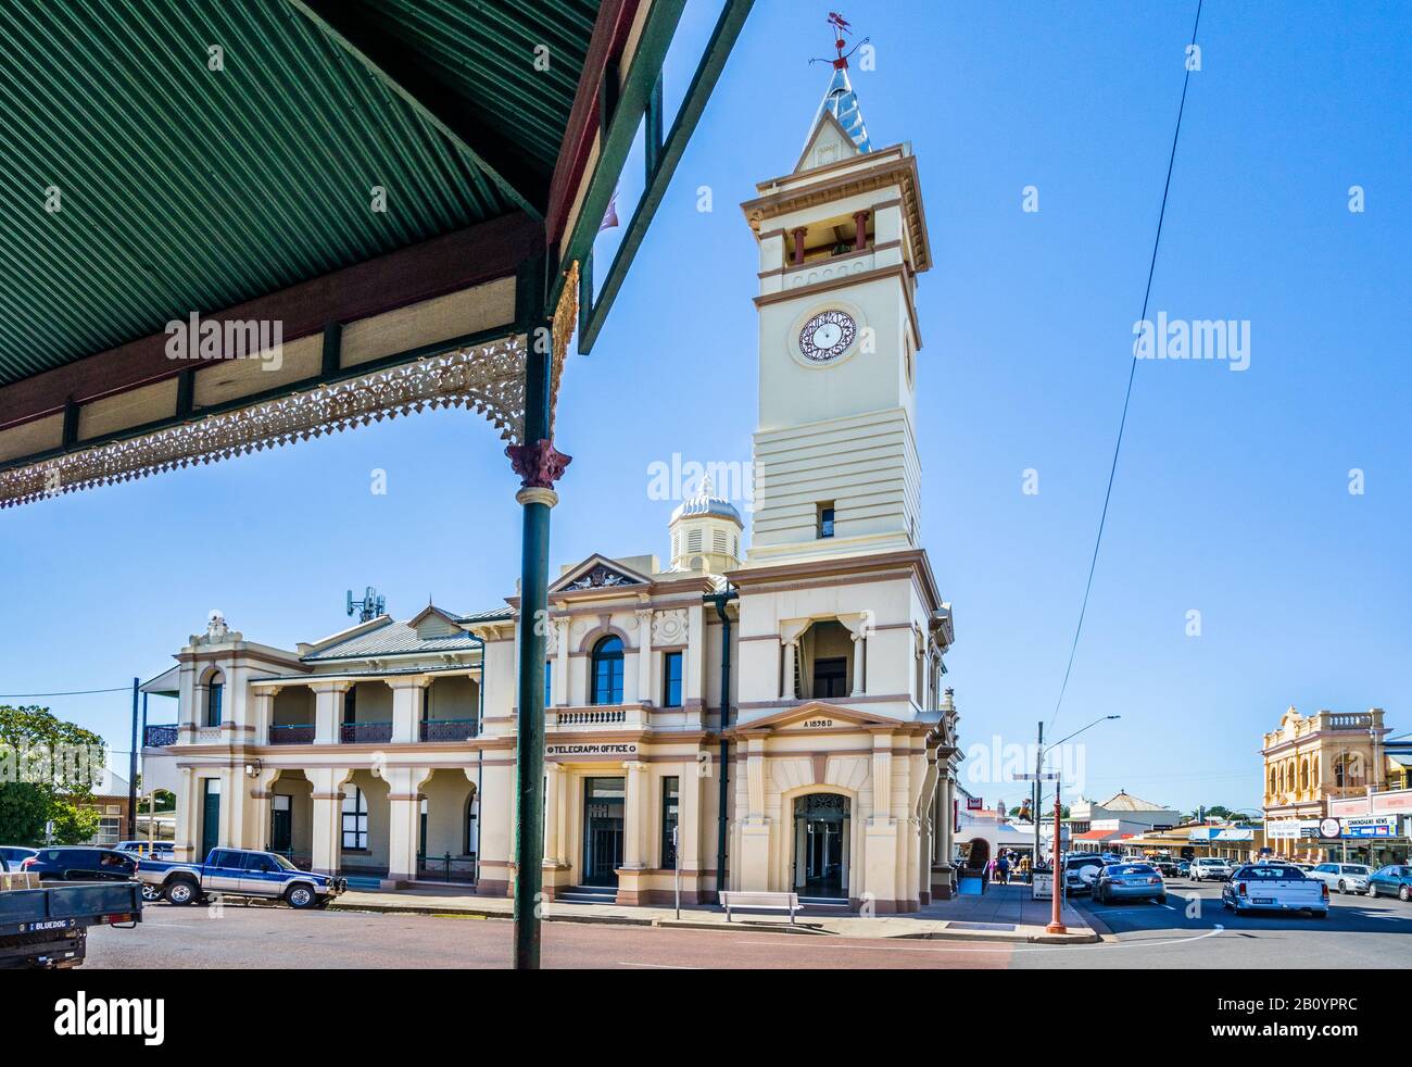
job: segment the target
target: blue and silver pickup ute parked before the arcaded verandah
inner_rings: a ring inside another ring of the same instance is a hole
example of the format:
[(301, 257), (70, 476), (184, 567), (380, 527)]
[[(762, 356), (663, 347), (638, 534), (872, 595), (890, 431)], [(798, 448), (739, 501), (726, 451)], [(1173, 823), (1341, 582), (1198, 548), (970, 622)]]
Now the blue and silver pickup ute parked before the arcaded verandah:
[(171, 904), (195, 904), (208, 893), (284, 900), (289, 907), (328, 907), (347, 890), (346, 878), (301, 871), (278, 852), (213, 848), (205, 863), (143, 859), (143, 885), (157, 889)]

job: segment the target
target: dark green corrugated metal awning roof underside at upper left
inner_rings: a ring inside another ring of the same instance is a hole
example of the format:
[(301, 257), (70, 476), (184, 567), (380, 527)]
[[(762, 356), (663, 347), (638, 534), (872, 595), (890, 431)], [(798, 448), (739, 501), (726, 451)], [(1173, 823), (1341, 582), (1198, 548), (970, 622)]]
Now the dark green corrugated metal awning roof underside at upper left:
[[(342, 10), (548, 185), (597, 7)], [(284, 0), (0, 0), (0, 386), (520, 206)]]

